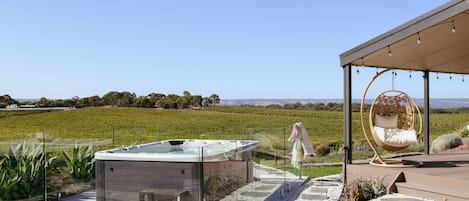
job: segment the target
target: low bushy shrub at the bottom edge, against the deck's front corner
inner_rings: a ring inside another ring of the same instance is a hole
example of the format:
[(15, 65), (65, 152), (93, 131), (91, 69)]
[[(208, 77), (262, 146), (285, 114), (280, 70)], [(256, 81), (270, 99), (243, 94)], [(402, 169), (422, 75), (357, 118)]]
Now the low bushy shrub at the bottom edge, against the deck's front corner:
[(381, 179), (357, 179), (347, 186), (348, 200), (371, 200), (386, 194), (386, 187)]

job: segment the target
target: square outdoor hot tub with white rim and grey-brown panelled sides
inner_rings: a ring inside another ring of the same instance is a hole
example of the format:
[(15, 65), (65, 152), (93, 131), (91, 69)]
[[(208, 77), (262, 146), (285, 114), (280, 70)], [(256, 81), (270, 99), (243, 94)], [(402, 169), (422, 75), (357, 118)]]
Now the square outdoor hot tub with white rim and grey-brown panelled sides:
[(253, 180), (250, 140), (165, 140), (99, 151), (96, 200), (220, 200)]

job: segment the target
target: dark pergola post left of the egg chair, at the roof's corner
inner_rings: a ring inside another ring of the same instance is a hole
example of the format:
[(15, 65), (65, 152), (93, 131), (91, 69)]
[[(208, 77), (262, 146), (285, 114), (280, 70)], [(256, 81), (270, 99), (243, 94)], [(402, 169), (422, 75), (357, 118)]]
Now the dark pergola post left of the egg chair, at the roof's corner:
[(352, 164), (352, 64), (344, 69), (344, 162)]

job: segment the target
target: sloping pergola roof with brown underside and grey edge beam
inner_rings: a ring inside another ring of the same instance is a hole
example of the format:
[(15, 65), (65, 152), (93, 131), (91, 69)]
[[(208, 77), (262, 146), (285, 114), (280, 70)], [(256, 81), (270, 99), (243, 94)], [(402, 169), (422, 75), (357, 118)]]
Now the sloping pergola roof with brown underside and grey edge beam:
[(340, 63), (469, 74), (469, 1), (433, 9), (342, 53)]

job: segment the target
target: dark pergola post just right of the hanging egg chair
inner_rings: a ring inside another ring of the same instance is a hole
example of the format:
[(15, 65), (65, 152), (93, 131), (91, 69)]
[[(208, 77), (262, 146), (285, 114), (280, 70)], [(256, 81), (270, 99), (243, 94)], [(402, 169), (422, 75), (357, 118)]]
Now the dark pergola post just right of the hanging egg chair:
[(423, 152), (430, 154), (430, 84), (429, 71), (423, 72)]

